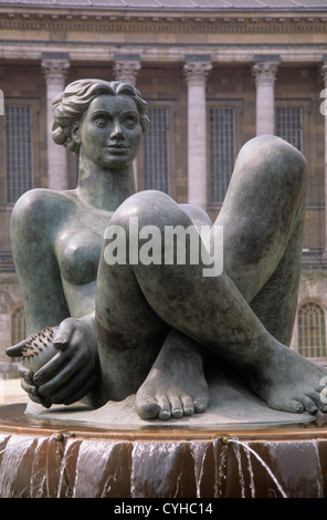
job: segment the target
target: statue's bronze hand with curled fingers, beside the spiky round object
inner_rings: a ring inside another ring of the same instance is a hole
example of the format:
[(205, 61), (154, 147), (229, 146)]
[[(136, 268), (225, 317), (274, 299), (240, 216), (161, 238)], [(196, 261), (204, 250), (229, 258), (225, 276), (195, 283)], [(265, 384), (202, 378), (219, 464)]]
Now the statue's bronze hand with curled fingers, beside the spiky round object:
[(53, 345), (57, 353), (34, 373), (33, 384), (50, 406), (70, 405), (85, 397), (98, 381), (95, 330), (83, 319), (67, 318), (57, 327)]

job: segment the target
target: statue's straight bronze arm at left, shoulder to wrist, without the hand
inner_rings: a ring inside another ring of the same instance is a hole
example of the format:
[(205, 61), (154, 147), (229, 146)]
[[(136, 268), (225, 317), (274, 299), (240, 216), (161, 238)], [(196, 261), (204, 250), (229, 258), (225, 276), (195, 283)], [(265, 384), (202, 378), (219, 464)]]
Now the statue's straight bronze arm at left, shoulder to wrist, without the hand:
[(24, 302), (28, 335), (70, 316), (54, 253), (61, 207), (55, 194), (32, 190), (11, 217), (11, 248)]

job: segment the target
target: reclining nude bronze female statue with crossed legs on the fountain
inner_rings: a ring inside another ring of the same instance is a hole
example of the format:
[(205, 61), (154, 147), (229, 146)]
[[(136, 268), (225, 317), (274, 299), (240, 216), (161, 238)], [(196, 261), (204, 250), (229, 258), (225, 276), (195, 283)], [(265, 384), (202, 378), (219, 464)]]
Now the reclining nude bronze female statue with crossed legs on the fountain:
[[(55, 327), (54, 357), (35, 374), (20, 370), (30, 398), (99, 407), (136, 394), (144, 419), (191, 416), (209, 406), (203, 361), (213, 356), (272, 408), (326, 412), (327, 371), (288, 347), (306, 205), (303, 155), (276, 136), (251, 139), (212, 226), (200, 208), (135, 193), (133, 160), (149, 124), (137, 90), (81, 80), (53, 107), (54, 142), (80, 155), (77, 188), (28, 191), (11, 220), (28, 334)], [(124, 229), (128, 249), (131, 217), (162, 236), (167, 226), (210, 225), (212, 233), (222, 226), (223, 271), (204, 277), (201, 259), (188, 254), (184, 264), (106, 261), (108, 230)], [(8, 355), (21, 355), (25, 344)]]

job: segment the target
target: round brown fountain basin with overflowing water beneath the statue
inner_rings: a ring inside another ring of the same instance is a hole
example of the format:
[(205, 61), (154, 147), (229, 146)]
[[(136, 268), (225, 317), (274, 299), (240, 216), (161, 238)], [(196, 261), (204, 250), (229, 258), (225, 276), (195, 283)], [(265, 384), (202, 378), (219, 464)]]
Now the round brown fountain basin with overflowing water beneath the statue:
[(326, 426), (67, 426), (4, 405), (0, 497), (324, 498)]

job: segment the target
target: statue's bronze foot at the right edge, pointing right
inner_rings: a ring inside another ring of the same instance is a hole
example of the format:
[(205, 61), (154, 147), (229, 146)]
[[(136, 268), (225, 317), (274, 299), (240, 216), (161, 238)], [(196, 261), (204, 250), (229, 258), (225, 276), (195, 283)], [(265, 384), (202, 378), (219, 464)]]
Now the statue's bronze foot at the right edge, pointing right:
[(327, 370), (284, 345), (277, 344), (255, 375), (250, 387), (274, 409), (291, 413), (327, 412)]

